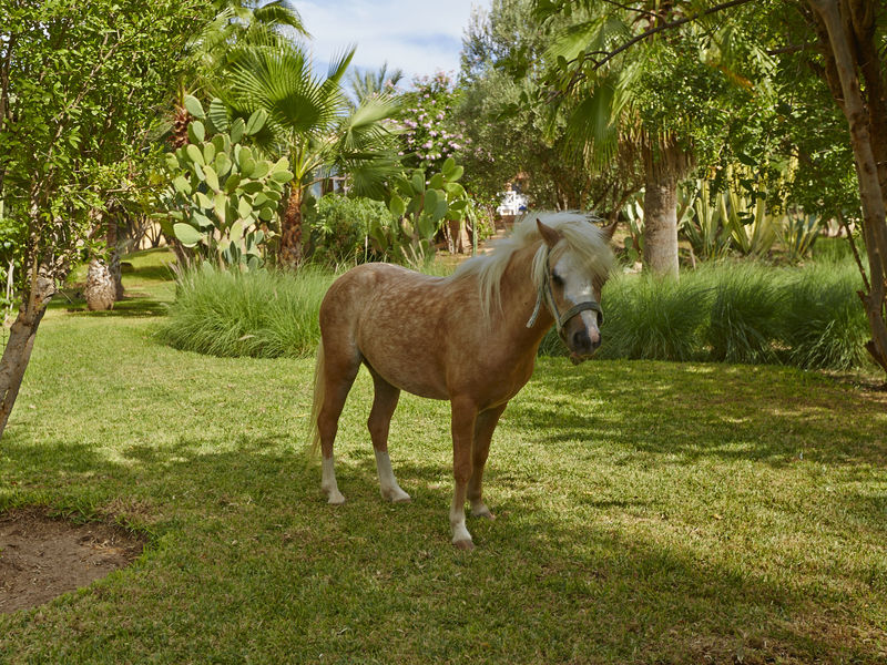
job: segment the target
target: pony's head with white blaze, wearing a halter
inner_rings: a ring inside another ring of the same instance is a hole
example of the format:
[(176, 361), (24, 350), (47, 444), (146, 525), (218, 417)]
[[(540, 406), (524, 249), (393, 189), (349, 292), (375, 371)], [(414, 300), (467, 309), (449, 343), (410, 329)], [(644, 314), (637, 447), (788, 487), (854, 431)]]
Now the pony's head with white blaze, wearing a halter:
[(613, 266), (614, 226), (600, 228), (575, 213), (541, 215), (536, 225), (542, 237), (532, 268), (538, 298), (527, 325), (532, 326), (544, 304), (578, 365), (601, 345), (601, 290)]

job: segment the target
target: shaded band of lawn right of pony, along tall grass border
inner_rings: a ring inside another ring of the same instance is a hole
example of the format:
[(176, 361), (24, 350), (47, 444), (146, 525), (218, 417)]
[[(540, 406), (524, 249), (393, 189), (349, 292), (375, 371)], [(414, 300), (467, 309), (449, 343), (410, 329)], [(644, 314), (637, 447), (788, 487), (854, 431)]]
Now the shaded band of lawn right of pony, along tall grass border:
[[(516, 399), (500, 427), (533, 429), (546, 444), (612, 441), (634, 452), (679, 456), (686, 464), (714, 457), (782, 467), (801, 456), (887, 466), (887, 396), (850, 392), (822, 375), (595, 361), (572, 370), (543, 367), (533, 381), (546, 398)], [(571, 396), (581, 396), (580, 408)], [(601, 408), (588, 409), (590, 399)], [(624, 410), (614, 412), (614, 403)]]

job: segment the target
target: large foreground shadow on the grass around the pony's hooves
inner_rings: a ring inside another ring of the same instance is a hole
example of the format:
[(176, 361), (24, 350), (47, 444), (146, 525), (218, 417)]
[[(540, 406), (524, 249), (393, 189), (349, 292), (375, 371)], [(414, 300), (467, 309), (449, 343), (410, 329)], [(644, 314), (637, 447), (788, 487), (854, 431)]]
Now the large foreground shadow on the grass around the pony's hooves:
[[(854, 614), (858, 598), (834, 598), (766, 565), (743, 572), (708, 556), (705, 542), (657, 541), (577, 519), (531, 488), (495, 507), (498, 521), (470, 519), (479, 548), (455, 552), (451, 489), (439, 482), (449, 470), (396, 461), (414, 501), (390, 505), (378, 495), (368, 441), (365, 456), (339, 464), (348, 503), (335, 508), (320, 495), (316, 462), (287, 451), (283, 434), (195, 436), (115, 456), (24, 439), (12, 432), (3, 441), (21, 485), (0, 493), (0, 508), (52, 494), (61, 510), (116, 505), (124, 519), (154, 523), (151, 585), (140, 587), (146, 581), (136, 575), (130, 589), (120, 577), (122, 589), (102, 591), (104, 604), (92, 592), (43, 611), (65, 634), (131, 626), (103, 638), (111, 659), (115, 648), (128, 659), (125, 649), (145, 634), (140, 617), (181, 612), (166, 605), (171, 597), (207, 623), (164, 624), (165, 641), (188, 645), (170, 659), (212, 659), (217, 645), (202, 635), (217, 631), (263, 659), (282, 640), (272, 627), (294, 614), (309, 617), (286, 622), (283, 640), (297, 662), (317, 653), (333, 662), (356, 653), (391, 662), (877, 663), (884, 655), (884, 631)], [(6, 633), (12, 653), (40, 635), (40, 622), (3, 621), (14, 628)], [(157, 649), (147, 635), (145, 648)]]

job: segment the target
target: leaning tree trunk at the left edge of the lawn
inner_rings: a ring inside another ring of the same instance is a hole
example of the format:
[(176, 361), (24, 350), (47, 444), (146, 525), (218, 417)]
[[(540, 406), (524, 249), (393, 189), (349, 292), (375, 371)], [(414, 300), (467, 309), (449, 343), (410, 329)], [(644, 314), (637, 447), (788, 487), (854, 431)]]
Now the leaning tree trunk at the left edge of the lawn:
[(32, 279), (31, 293), (26, 294), (19, 307), (19, 316), (9, 330), (7, 348), (0, 358), (0, 437), (6, 430), (24, 378), (24, 370), (31, 359), (37, 328), (54, 294), (55, 284), (52, 279), (42, 276)]

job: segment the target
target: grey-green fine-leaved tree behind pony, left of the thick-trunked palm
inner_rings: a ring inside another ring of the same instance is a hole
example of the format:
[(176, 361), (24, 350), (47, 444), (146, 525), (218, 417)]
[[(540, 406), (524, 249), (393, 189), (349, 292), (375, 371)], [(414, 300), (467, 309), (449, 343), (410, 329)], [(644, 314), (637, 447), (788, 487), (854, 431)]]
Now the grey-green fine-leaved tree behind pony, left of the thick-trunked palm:
[(630, 161), (618, 155), (606, 168), (590, 168), (588, 154), (564, 133), (563, 112), (536, 96), (547, 66), (549, 32), (567, 25), (552, 18), (543, 28), (533, 0), (493, 0), (476, 10), (462, 38), (462, 89), (457, 116), (469, 141), (462, 154), (466, 186), (498, 203), (506, 183), (520, 181), (533, 207), (618, 212), (640, 188)]

